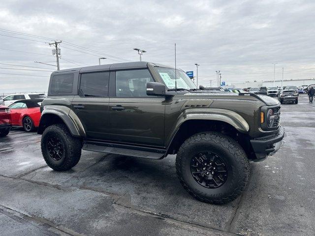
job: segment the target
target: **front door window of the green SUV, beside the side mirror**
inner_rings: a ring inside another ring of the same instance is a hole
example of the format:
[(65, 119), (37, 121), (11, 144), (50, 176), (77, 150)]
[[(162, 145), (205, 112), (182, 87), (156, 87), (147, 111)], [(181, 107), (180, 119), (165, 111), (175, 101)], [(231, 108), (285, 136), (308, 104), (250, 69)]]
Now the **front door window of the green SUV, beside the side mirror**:
[(116, 96), (146, 97), (148, 82), (153, 79), (147, 69), (116, 71)]

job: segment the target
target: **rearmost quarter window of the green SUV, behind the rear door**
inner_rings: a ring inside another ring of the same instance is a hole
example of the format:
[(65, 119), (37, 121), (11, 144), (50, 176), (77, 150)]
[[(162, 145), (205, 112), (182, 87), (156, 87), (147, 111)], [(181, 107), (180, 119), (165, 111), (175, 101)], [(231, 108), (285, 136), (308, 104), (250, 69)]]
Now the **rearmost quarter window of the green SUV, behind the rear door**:
[(54, 75), (51, 80), (50, 92), (53, 94), (72, 93), (74, 74)]

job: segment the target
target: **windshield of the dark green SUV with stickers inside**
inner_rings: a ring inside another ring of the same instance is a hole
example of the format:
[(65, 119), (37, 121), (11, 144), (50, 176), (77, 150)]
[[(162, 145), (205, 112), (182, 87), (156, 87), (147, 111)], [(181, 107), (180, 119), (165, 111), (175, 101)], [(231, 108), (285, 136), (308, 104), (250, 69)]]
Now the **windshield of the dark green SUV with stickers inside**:
[[(155, 67), (156, 71), (162, 78), (168, 89), (175, 89), (175, 69)], [(182, 70), (176, 70), (176, 87), (177, 89), (197, 89), (188, 75)]]

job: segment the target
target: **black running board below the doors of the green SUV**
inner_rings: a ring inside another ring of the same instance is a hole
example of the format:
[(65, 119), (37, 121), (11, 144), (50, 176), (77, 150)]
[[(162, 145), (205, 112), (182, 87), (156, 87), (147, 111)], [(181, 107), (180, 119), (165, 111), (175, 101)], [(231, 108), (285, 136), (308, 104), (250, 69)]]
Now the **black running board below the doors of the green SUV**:
[(99, 145), (94, 145), (94, 144), (84, 144), (82, 149), (88, 150), (88, 151), (120, 154), (124, 156), (136, 156), (136, 157), (156, 159), (156, 160), (162, 159), (164, 157), (164, 153), (133, 150), (133, 149), (126, 149), (126, 148), (105, 147), (105, 146), (99, 146)]

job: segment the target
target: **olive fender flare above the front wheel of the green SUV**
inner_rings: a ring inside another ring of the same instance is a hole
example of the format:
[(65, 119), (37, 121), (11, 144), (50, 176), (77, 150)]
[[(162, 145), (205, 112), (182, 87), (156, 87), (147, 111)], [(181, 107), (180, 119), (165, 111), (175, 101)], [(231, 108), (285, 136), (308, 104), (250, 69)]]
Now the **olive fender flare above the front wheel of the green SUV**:
[(248, 122), (236, 112), (220, 108), (191, 108), (184, 110), (180, 114), (175, 124), (175, 127), (172, 129), (173, 132), (167, 139), (167, 144), (171, 144), (171, 141), (173, 140), (177, 131), (180, 129), (181, 125), (184, 122), (196, 119), (223, 121), (232, 125), (241, 133), (248, 133), (248, 131), (250, 130), (250, 125), (248, 124)]

